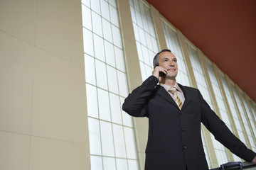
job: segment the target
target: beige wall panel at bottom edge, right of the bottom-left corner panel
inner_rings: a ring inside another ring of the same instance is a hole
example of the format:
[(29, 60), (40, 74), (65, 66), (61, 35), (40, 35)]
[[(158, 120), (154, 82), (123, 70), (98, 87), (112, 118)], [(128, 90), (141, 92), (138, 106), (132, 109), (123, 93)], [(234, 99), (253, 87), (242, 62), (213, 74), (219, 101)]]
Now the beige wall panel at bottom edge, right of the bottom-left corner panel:
[(31, 170), (73, 170), (73, 143), (31, 137)]

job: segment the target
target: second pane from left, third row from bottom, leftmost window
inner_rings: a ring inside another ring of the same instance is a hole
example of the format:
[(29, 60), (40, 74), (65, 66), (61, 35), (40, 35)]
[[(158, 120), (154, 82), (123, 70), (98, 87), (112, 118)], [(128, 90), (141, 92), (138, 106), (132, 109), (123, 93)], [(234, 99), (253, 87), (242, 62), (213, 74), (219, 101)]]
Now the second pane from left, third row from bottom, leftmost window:
[(110, 100), (108, 92), (102, 89), (97, 89), (100, 119), (111, 121), (110, 118)]

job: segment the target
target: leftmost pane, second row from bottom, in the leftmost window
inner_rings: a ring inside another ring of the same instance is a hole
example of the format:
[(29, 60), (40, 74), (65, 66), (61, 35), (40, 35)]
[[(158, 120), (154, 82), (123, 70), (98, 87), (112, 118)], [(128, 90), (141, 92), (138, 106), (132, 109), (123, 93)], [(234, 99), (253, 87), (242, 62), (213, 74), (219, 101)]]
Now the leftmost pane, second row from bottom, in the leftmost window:
[(90, 154), (102, 154), (100, 145), (100, 125), (99, 120), (88, 118)]

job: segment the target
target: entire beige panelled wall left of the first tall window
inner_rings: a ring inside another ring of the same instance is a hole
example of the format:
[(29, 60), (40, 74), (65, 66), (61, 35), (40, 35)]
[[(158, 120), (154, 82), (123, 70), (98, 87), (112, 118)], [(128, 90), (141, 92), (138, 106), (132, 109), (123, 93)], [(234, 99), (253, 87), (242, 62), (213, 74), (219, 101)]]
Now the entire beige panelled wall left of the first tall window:
[(0, 169), (90, 169), (80, 0), (0, 0)]

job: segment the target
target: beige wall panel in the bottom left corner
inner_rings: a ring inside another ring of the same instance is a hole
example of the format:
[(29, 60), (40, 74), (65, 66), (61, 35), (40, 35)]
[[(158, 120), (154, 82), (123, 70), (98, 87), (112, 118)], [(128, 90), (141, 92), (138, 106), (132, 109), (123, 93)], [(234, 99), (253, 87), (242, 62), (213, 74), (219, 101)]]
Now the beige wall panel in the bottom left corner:
[(30, 137), (0, 131), (0, 169), (28, 170)]

